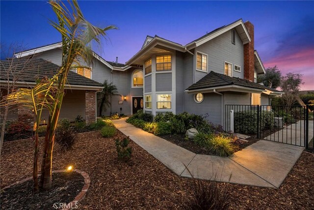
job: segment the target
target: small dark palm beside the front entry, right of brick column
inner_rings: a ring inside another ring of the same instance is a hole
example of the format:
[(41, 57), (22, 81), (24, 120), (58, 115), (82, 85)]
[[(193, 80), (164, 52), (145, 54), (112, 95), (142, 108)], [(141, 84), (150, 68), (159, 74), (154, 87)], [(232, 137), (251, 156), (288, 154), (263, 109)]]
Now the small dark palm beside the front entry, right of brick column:
[(104, 81), (103, 83), (104, 89), (101, 92), (98, 92), (98, 100), (100, 101), (100, 106), (99, 106), (99, 117), (102, 117), (102, 112), (103, 110), (106, 111), (106, 105), (110, 106), (110, 98), (114, 95), (119, 95), (118, 94), (118, 89), (115, 85), (112, 83), (108, 83), (107, 80)]

